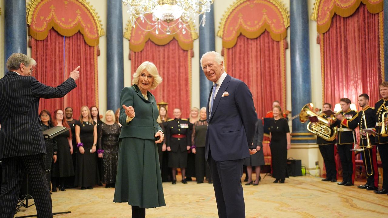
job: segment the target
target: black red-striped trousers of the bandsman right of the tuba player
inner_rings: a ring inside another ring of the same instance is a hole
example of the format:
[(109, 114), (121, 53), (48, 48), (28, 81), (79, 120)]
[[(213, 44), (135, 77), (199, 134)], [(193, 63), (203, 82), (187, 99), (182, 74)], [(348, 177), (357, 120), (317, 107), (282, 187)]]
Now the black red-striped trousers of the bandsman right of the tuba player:
[(340, 155), (342, 165), (342, 181), (353, 183), (353, 144), (337, 145), (337, 151)]

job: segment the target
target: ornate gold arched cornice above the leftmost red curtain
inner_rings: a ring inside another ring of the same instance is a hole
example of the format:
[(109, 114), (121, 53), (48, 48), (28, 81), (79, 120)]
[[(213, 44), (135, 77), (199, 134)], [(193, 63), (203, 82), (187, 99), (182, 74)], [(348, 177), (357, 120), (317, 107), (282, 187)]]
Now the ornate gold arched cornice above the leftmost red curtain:
[[(28, 25), (31, 25), (32, 17), (33, 17), (33, 14), (35, 12), (36, 6), (38, 5), (38, 3), (42, 2), (42, 1), (47, 1), (47, 0), (31, 0), (28, 3), (27, 10), (26, 10), (26, 13), (27, 13), (26, 18), (27, 18)], [(95, 21), (95, 24), (96, 24), (98, 35), (99, 36), (105, 35), (104, 29), (102, 29), (100, 16), (98, 16), (98, 13), (95, 11), (93, 6), (90, 5), (90, 2), (87, 2), (86, 0), (77, 0), (77, 1), (80, 2), (82, 5), (84, 5), (85, 8), (87, 8), (88, 11), (90, 12), (90, 14), (92, 15), (92, 17)]]

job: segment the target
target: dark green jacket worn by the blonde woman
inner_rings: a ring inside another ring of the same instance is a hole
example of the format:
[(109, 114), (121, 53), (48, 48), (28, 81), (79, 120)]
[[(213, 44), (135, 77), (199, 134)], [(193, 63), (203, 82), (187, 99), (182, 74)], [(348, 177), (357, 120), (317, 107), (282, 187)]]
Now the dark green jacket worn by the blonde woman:
[[(147, 97), (148, 100), (145, 100), (137, 85), (125, 87), (121, 90), (119, 121), (122, 127), (119, 138), (134, 137), (155, 140), (156, 132), (162, 130), (156, 122), (159, 110), (156, 106), (155, 97), (151, 92), (147, 92)], [(132, 106), (135, 109), (135, 117), (129, 123), (126, 122), (123, 104), (127, 107)]]

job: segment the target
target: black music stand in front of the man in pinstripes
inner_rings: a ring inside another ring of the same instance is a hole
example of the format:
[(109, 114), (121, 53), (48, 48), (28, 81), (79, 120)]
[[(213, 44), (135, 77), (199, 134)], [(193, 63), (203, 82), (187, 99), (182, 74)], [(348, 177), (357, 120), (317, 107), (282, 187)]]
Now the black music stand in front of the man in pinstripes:
[[(43, 131), (43, 136), (45, 139), (47, 138), (54, 138), (55, 136), (64, 133), (65, 131), (68, 131), (69, 128), (63, 127), (63, 126), (54, 126), (53, 128), (50, 128), (48, 130)], [(34, 199), (33, 196), (28, 194), (28, 174), (26, 174), (26, 181), (27, 181), (27, 194), (24, 196), (22, 200), (19, 199), (20, 204), (18, 208), (16, 209), (16, 213), (20, 211), (21, 206), (24, 206), (25, 208), (28, 208), (30, 206), (33, 206), (35, 203), (28, 205), (28, 199)], [(26, 201), (27, 204), (24, 204), (24, 201)], [(15, 214), (16, 214), (15, 213)], [(71, 213), (71, 211), (64, 211), (64, 212), (56, 212), (52, 213), (52, 215), (57, 215), (57, 214), (64, 214), (64, 213)], [(27, 216), (16, 216), (15, 218), (26, 218), (26, 217), (35, 217), (38, 215), (27, 215)]]

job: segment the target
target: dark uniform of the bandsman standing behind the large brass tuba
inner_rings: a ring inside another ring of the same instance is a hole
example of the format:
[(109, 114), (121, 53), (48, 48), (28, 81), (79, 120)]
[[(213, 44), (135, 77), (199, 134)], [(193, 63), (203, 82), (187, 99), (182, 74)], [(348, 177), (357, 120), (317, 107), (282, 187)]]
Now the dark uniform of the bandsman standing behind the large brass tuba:
[[(327, 119), (327, 115), (323, 112), (319, 114), (319, 116), (324, 119)], [(323, 138), (317, 136), (317, 144), (319, 145), (319, 151), (320, 154), (322, 154), (323, 161), (326, 167), (325, 180), (331, 180), (333, 182), (336, 182), (337, 180), (336, 161), (334, 159), (334, 144), (336, 144), (336, 141), (336, 139), (334, 139), (333, 141), (326, 141)]]

